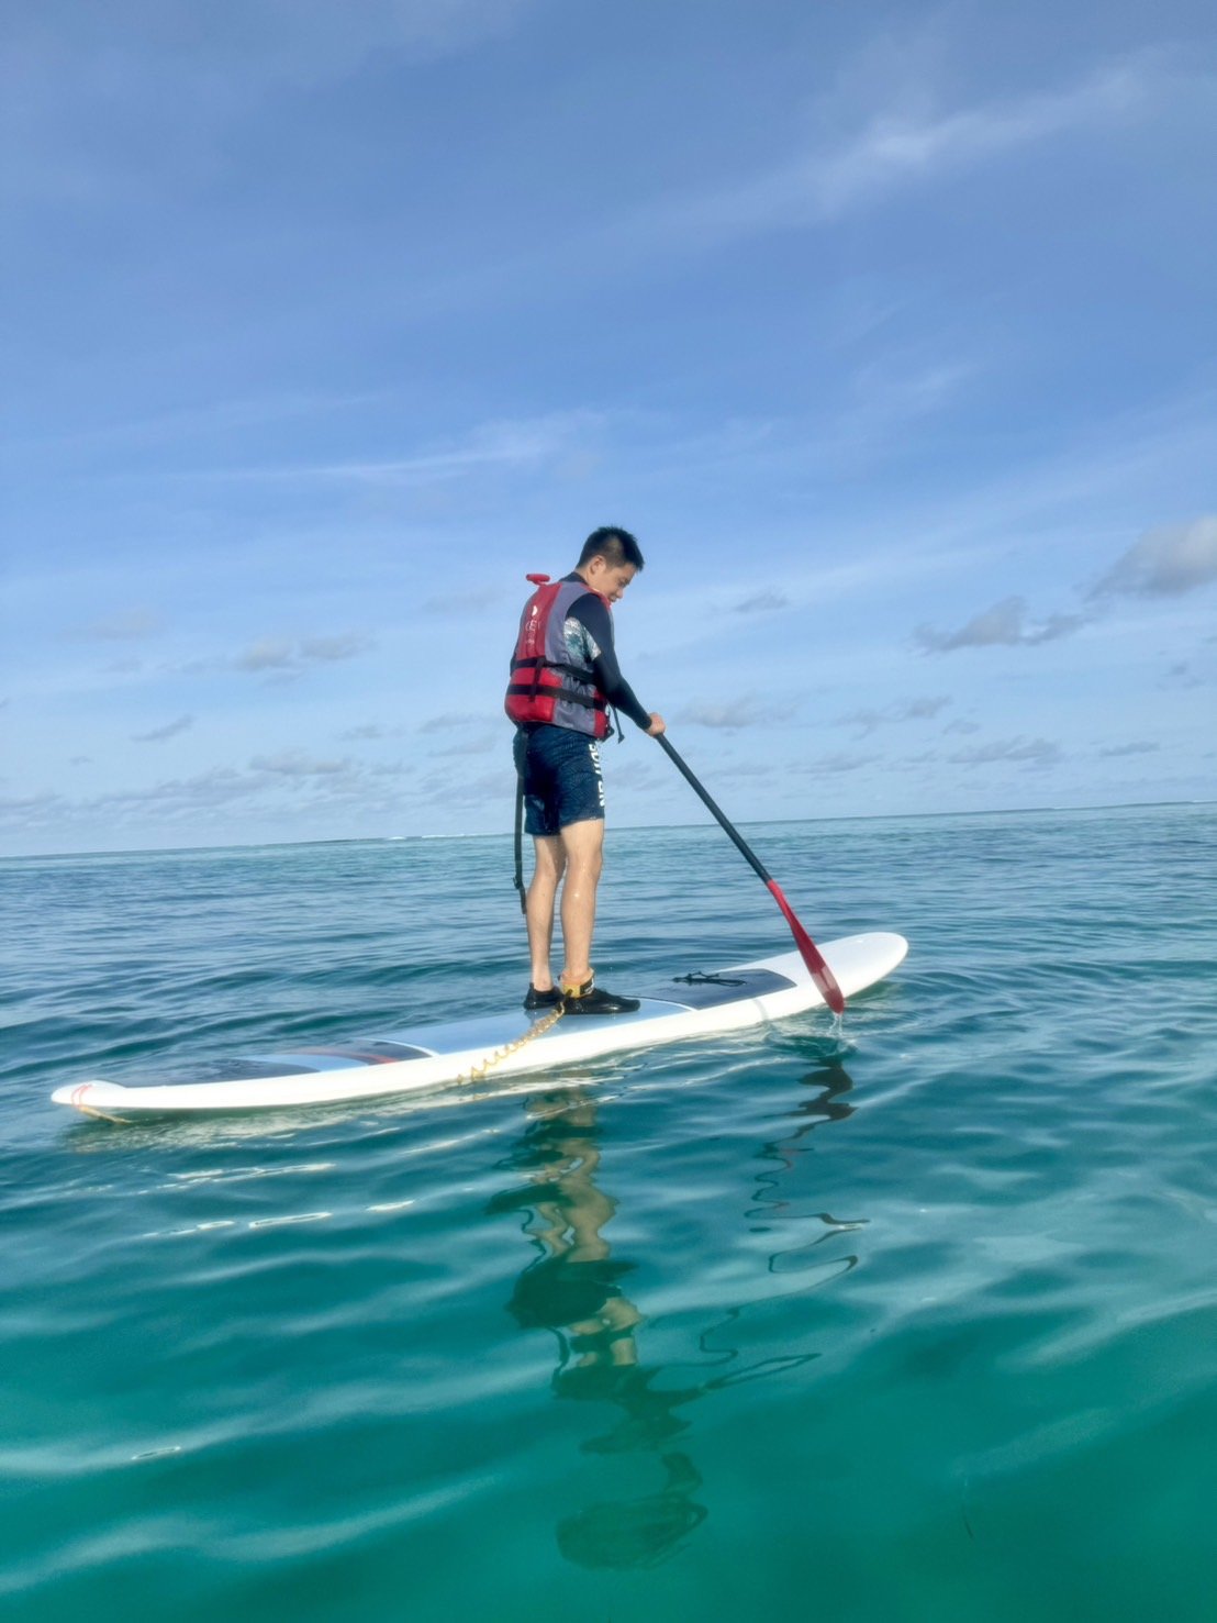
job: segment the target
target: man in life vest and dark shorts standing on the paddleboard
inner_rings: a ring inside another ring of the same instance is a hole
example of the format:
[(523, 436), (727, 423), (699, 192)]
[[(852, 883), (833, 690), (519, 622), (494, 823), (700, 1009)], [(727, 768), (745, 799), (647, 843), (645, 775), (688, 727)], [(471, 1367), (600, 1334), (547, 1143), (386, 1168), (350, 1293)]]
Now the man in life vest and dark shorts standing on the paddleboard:
[[(565, 1006), (566, 1014), (628, 1014), (638, 998), (596, 985), (591, 966), (596, 886), (604, 863), (604, 779), (599, 740), (608, 709), (651, 737), (664, 717), (647, 712), (621, 675), (613, 651), (612, 605), (643, 568), (628, 529), (596, 529), (574, 570), (560, 581), (529, 575), (511, 657), (506, 712), (516, 724), (514, 758), (535, 867), (526, 896), (532, 980), (524, 1008)], [(553, 904), (561, 885), (566, 961), (553, 982)]]

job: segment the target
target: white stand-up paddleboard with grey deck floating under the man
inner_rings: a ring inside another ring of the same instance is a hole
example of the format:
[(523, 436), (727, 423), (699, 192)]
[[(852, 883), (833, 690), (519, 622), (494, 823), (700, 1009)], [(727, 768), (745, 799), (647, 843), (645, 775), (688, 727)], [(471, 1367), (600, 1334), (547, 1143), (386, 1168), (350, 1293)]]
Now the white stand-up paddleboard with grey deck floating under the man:
[[(909, 951), (901, 935), (849, 935), (824, 948), (845, 997), (883, 980)], [(641, 993), (639, 993), (641, 995)], [(347, 1099), (380, 1099), (412, 1094), (480, 1074), (493, 1058), (493, 1074), (539, 1071), (574, 1065), (604, 1053), (680, 1042), (716, 1031), (738, 1031), (768, 1019), (823, 1008), (816, 987), (798, 956), (763, 958), (714, 974), (693, 971), (673, 975), (643, 997), (634, 1014), (568, 1014), (548, 1031), (519, 1044), (534, 1019), (522, 1010), (414, 1026), (381, 1037), (357, 1039), (325, 1048), (294, 1048), (258, 1060), (235, 1060), (214, 1081), (182, 1081), (122, 1086), (76, 1083), (57, 1087), (58, 1105), (75, 1105), (86, 1115), (128, 1120), (136, 1115), (175, 1115), (183, 1110), (273, 1110), (286, 1105), (341, 1104)]]

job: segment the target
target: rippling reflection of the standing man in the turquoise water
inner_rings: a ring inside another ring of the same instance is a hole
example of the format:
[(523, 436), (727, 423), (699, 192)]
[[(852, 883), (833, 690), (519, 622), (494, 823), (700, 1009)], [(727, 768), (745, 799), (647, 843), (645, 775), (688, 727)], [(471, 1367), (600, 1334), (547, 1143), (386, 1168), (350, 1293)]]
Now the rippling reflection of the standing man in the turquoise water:
[[(600, 1165), (596, 1105), (579, 1089), (532, 1096), (527, 1133), (506, 1165), (529, 1182), (505, 1190), (490, 1211), (529, 1208), (526, 1232), (540, 1255), (516, 1281), (508, 1310), (524, 1329), (552, 1329), (560, 1362), (553, 1375), (558, 1397), (617, 1404), (623, 1419), (583, 1446), (589, 1453), (657, 1449), (683, 1431), (673, 1414), (701, 1388), (651, 1391), (659, 1373), (638, 1358), (634, 1331), (643, 1315), (618, 1281), (633, 1263), (610, 1256), (600, 1230), (617, 1203), (596, 1185)], [(706, 1518), (691, 1495), (701, 1483), (693, 1464), (665, 1454), (667, 1480), (659, 1493), (594, 1505), (558, 1526), (563, 1555), (581, 1566), (649, 1566), (675, 1548)]]

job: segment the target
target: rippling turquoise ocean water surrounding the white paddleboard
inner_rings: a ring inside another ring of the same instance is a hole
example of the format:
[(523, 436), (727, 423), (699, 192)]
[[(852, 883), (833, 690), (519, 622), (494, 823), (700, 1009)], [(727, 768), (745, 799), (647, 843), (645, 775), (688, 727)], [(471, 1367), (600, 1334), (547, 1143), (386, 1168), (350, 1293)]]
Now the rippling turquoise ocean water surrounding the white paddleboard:
[[(5, 1617), (1217, 1617), (1217, 808), (748, 833), (839, 1031), (127, 1128), (518, 998), (510, 842), (0, 863)], [(789, 945), (612, 831), (607, 985)]]

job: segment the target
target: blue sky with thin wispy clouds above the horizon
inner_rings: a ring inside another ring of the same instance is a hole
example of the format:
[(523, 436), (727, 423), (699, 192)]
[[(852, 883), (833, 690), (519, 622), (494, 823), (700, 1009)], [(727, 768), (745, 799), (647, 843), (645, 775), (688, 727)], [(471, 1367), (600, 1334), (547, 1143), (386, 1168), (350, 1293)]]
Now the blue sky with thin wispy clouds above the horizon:
[(1214, 799), (1209, 0), (5, 10), (0, 854)]

